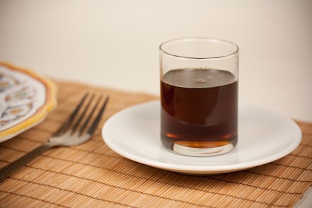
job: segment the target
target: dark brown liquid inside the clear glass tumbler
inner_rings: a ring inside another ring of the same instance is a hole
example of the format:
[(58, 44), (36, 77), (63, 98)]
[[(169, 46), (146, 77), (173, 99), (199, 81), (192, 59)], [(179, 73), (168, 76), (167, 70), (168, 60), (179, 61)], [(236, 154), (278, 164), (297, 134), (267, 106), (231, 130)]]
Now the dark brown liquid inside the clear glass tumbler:
[(161, 137), (194, 148), (235, 145), (238, 137), (238, 81), (228, 71), (176, 69), (160, 83)]

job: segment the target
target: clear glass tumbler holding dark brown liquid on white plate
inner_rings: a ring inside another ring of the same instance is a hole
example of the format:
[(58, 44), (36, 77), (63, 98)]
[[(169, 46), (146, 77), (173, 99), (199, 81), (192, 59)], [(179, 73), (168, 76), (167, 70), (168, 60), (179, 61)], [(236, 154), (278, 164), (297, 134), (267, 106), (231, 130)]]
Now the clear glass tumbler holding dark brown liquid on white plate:
[(238, 142), (238, 46), (196, 37), (160, 45), (162, 144), (215, 156)]

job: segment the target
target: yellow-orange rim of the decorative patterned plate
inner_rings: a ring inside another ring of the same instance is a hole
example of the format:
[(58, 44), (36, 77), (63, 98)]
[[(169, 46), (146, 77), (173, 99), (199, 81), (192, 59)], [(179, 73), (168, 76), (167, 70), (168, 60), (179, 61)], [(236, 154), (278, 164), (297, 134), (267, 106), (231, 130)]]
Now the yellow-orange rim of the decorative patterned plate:
[(10, 127), (9, 129), (0, 131), (0, 142), (3, 142), (16, 137), (16, 135), (25, 132), (27, 129), (30, 129), (31, 127), (38, 125), (40, 122), (45, 120), (45, 117), (47, 117), (48, 114), (54, 110), (57, 105), (57, 87), (55, 86), (55, 83), (50, 81), (50, 79), (46, 79), (45, 77), (36, 74), (30, 69), (16, 67), (15, 65), (7, 62), (0, 62), (0, 66), (6, 67), (12, 71), (21, 72), (26, 76), (29, 76), (42, 83), (45, 87), (45, 103), (41, 105), (40, 108), (38, 108), (36, 112), (26, 120), (18, 122), (18, 124)]

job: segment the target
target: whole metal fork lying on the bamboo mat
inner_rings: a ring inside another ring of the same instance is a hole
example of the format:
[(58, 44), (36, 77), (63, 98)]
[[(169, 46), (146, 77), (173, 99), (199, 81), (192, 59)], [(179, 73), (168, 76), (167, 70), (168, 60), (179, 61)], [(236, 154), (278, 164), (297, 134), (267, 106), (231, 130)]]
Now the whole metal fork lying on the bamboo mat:
[(84, 110), (82, 111), (81, 115), (79, 116), (77, 121), (75, 121), (74, 123), (74, 120), (77, 117), (80, 108), (82, 108), (84, 101), (87, 100), (87, 97), (89, 97), (88, 93), (84, 95), (82, 100), (80, 100), (77, 107), (69, 116), (68, 120), (59, 129), (57, 129), (57, 132), (55, 132), (55, 134), (53, 134), (52, 137), (50, 137), (48, 142), (38, 146), (36, 149), (33, 149), (33, 151), (30, 151), (25, 156), (18, 158), (16, 161), (9, 164), (8, 166), (1, 168), (0, 182), (5, 180), (9, 176), (10, 173), (12, 173), (13, 171), (17, 171), (19, 168), (22, 168), (23, 166), (25, 166), (27, 163), (32, 161), (35, 157), (37, 157), (39, 154), (41, 154), (43, 151), (47, 149), (50, 149), (55, 146), (73, 146), (73, 145), (82, 144), (85, 141), (88, 141), (91, 138), (92, 134), (94, 134), (94, 131), (97, 125), (99, 125), (99, 121), (101, 120), (101, 116), (104, 113), (109, 97), (107, 96), (106, 99), (104, 100), (104, 103), (99, 110), (99, 114), (96, 116), (96, 118), (90, 125), (89, 129), (87, 129), (87, 131), (84, 131), (84, 129), (86, 129), (86, 127), (89, 125), (91, 117), (94, 114), (102, 98), (100, 97), (97, 100), (96, 105), (91, 110), (91, 112), (89, 112), (89, 116), (86, 118), (84, 123), (80, 125), (80, 122), (82, 122), (82, 120), (84, 119), (87, 113), (87, 110), (89, 109), (91, 105), (92, 100), (94, 100), (94, 95), (92, 95), (91, 98), (89, 98), (89, 102), (84, 107)]

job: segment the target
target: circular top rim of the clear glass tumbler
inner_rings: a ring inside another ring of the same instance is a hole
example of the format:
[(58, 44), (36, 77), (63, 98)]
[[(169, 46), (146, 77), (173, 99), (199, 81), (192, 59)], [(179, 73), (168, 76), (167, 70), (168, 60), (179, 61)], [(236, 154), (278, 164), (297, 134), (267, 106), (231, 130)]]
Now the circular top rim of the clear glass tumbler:
[[(230, 45), (233, 45), (235, 47), (234, 52), (230, 52), (228, 54), (222, 55), (222, 56), (216, 56), (216, 57), (186, 57), (186, 56), (181, 56), (181, 55), (177, 55), (177, 54), (172, 54), (169, 52), (166, 52), (162, 47), (164, 45), (166, 45), (169, 42), (175, 42), (175, 41), (189, 41), (189, 40), (210, 40), (213, 42), (223, 42), (223, 43), (227, 43)], [(162, 42), (162, 44), (160, 44), (159, 50), (169, 56), (172, 57), (179, 57), (179, 58), (184, 58), (184, 59), (221, 59), (221, 58), (225, 58), (225, 57), (230, 57), (234, 54), (238, 54), (239, 52), (239, 47), (238, 45), (236, 45), (234, 42), (230, 42), (228, 40), (221, 40), (218, 38), (213, 38), (213, 37), (182, 37), (182, 38), (176, 38), (176, 39), (172, 39), (172, 40), (167, 40), (165, 42)]]

